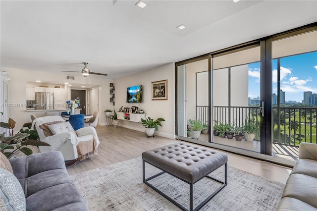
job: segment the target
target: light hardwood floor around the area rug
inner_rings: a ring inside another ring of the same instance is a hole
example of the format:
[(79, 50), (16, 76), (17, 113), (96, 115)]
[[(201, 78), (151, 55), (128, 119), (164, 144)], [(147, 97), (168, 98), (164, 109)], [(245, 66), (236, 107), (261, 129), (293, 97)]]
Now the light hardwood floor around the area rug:
[[(77, 161), (74, 165), (68, 166), (67, 171), (70, 175), (137, 158), (144, 151), (175, 142), (183, 142), (159, 136), (147, 138), (144, 132), (123, 127), (97, 126), (96, 130), (101, 142), (98, 147), (98, 155), (83, 161)], [(291, 172), (291, 168), (284, 166), (227, 152), (224, 153), (228, 155), (228, 165), (280, 183), (285, 184)]]

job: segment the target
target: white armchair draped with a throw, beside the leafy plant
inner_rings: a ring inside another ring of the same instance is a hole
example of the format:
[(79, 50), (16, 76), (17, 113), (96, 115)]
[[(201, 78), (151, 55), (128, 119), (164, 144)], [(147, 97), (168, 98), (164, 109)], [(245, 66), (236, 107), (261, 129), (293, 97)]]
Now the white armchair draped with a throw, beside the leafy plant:
[(96, 129), (84, 127), (74, 130), (61, 116), (44, 116), (33, 121), (40, 140), (51, 145), (39, 146), (40, 152), (60, 151), (64, 160), (83, 160), (97, 155), (100, 144)]

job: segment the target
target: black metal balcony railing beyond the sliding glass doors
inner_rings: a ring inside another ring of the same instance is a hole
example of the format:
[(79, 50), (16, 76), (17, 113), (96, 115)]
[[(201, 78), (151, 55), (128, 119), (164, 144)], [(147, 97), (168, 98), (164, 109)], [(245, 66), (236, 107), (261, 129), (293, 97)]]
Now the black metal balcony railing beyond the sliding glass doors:
[[(295, 147), (301, 142), (316, 143), (317, 107), (273, 107), (272, 110), (273, 143)], [(196, 112), (197, 119), (208, 122), (208, 106), (197, 106)], [(247, 118), (260, 124), (260, 115), (259, 106), (213, 106), (213, 120), (223, 124), (244, 126)]]

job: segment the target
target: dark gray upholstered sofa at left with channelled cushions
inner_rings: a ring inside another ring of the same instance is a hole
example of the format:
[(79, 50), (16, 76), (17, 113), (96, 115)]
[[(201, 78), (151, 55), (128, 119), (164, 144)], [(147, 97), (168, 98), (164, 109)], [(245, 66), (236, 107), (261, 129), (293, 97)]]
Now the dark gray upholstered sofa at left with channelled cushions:
[(26, 198), (26, 211), (89, 211), (59, 151), (9, 159)]

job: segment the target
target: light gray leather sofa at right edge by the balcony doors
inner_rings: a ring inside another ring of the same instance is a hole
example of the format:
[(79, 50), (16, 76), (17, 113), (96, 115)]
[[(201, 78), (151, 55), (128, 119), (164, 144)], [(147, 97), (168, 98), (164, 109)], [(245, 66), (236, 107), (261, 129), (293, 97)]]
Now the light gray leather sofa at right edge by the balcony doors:
[(276, 211), (317, 211), (317, 144), (300, 144)]

